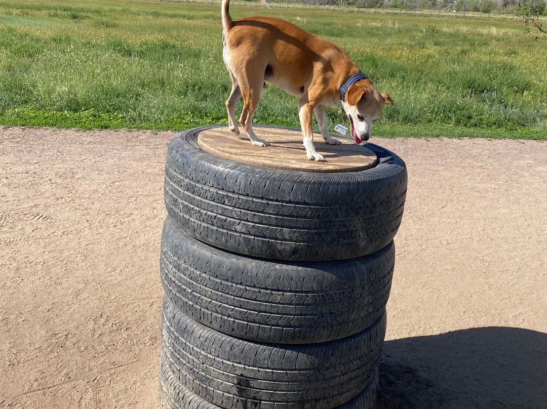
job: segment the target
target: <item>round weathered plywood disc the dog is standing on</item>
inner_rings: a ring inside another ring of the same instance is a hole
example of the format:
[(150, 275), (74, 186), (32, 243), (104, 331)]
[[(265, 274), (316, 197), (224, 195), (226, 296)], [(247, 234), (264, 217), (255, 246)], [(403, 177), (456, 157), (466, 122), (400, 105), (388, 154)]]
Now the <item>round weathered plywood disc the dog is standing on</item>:
[(200, 132), (197, 143), (206, 152), (224, 159), (287, 171), (359, 172), (376, 165), (376, 154), (352, 139), (337, 138), (342, 144), (327, 145), (321, 135), (315, 134), (315, 149), (325, 158), (325, 162), (316, 162), (307, 159), (300, 131), (258, 126), (253, 130), (259, 139), (271, 145), (253, 145), (245, 134), (234, 135), (228, 127)]

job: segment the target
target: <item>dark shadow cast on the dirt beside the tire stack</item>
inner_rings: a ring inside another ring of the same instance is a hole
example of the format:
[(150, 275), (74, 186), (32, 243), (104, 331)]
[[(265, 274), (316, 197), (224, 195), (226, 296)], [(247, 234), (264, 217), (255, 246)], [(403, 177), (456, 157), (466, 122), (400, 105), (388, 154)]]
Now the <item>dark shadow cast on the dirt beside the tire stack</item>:
[(547, 407), (547, 334), (473, 328), (384, 344), (376, 409)]

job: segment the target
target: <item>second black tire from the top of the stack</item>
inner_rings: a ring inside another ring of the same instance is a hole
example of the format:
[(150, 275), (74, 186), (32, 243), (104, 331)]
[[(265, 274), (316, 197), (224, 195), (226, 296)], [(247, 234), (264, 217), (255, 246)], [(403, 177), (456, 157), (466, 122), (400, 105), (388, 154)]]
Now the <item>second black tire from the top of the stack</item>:
[(393, 242), (352, 260), (276, 262), (228, 253), (186, 235), (167, 217), (161, 282), (169, 299), (200, 323), (272, 343), (333, 341), (383, 313), (395, 263)]

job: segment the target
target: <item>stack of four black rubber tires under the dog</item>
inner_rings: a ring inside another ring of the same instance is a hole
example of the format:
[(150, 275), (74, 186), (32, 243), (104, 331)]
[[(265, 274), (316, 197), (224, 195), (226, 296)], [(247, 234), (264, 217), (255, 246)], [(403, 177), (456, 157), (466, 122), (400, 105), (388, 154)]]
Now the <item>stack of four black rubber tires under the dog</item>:
[(404, 162), (250, 166), (201, 150), (207, 128), (167, 152), (160, 408), (374, 407)]

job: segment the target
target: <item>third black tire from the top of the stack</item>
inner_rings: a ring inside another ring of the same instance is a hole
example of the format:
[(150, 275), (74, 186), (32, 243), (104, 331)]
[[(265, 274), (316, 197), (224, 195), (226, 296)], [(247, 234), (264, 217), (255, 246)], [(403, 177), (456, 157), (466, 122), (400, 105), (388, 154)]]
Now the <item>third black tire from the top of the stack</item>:
[(373, 376), (386, 314), (338, 341), (288, 346), (222, 334), (164, 297), (162, 347), (182, 385), (225, 409), (331, 409), (350, 401)]

